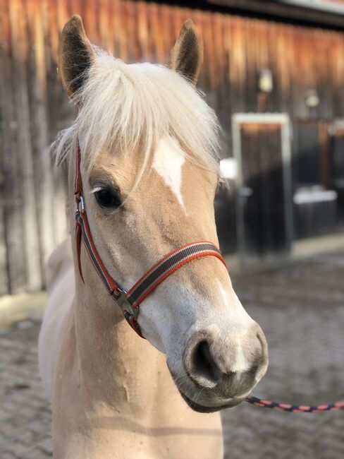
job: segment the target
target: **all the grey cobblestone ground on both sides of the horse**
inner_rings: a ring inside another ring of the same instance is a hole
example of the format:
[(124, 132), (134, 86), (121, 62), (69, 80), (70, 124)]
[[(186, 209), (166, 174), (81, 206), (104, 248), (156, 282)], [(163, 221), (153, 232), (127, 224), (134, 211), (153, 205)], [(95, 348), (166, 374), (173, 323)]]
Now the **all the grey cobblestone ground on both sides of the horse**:
[[(269, 342), (269, 371), (254, 395), (303, 404), (343, 399), (344, 253), (238, 275), (233, 284)], [(51, 457), (38, 331), (37, 321), (0, 331), (1, 459)], [(290, 414), (242, 403), (223, 412), (223, 425), (226, 459), (344, 458), (343, 412)]]

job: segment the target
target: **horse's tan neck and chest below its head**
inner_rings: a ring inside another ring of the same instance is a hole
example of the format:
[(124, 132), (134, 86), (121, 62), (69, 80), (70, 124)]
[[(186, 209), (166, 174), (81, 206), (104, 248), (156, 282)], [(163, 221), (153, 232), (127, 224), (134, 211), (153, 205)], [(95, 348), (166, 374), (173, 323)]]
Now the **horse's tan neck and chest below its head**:
[(77, 292), (63, 342), (63, 354), (71, 344), (75, 356), (54, 403), (56, 458), (222, 458), (219, 413), (190, 410), (164, 354), (85, 292)]

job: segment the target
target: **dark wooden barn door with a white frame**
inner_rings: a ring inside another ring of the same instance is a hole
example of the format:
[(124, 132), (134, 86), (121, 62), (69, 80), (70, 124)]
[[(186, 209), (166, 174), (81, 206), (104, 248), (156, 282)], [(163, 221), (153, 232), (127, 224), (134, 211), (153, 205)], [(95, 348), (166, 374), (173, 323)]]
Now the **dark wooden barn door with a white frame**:
[(272, 265), (288, 255), (292, 241), (288, 115), (233, 115), (233, 151), (242, 267)]

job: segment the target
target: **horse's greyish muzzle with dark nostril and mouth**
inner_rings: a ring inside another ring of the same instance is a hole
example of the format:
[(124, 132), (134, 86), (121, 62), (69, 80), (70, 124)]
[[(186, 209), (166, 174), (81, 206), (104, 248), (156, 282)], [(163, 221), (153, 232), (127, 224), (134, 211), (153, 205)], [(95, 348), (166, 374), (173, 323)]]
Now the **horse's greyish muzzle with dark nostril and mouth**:
[[(188, 405), (198, 412), (212, 412), (238, 405), (266, 373), (267, 343), (252, 321), (245, 334), (227, 336), (195, 332), (183, 354), (185, 377), (174, 378)], [(173, 376), (173, 371), (171, 371)]]

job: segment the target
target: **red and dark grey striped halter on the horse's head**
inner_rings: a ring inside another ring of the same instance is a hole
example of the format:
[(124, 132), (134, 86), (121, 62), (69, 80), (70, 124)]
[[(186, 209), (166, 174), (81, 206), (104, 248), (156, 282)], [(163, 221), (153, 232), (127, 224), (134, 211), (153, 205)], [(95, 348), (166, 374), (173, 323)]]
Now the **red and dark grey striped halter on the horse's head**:
[(190, 263), (190, 261), (195, 260), (196, 258), (201, 258), (202, 256), (215, 256), (216, 258), (219, 258), (225, 266), (226, 262), (223, 260), (219, 249), (211, 242), (190, 242), (189, 244), (185, 244), (184, 246), (171, 251), (169, 254), (164, 256), (164, 258), (161, 258), (147, 271), (147, 273), (142, 276), (142, 278), (137, 280), (130, 290), (124, 290), (109, 274), (109, 271), (106, 269), (106, 266), (104, 265), (102, 258), (100, 258), (94, 244), (85, 209), (80, 165), (81, 152), (78, 139), (75, 167), (75, 238), (80, 277), (82, 278), (82, 281), (84, 281), (82, 277), (80, 258), (81, 241), (83, 241), (92, 264), (105, 285), (106, 291), (119, 306), (129, 325), (133, 328), (133, 330), (135, 330), (137, 335), (140, 335), (141, 338), (143, 338), (140, 326), (137, 323), (140, 303), (142, 303), (142, 301), (150, 293), (152, 293), (163, 280), (168, 278), (168, 276), (173, 274), (182, 266)]

